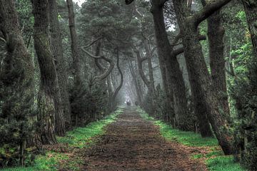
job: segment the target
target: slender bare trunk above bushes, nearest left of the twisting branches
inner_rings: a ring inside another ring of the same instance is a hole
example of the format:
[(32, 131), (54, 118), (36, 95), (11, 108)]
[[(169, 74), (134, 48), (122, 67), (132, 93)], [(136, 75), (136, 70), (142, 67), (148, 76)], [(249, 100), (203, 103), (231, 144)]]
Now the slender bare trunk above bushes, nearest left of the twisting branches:
[(71, 52), (74, 66), (74, 86), (81, 86), (81, 65), (79, 58), (78, 38), (75, 29), (75, 14), (72, 0), (66, 0), (69, 11), (69, 30), (71, 34)]

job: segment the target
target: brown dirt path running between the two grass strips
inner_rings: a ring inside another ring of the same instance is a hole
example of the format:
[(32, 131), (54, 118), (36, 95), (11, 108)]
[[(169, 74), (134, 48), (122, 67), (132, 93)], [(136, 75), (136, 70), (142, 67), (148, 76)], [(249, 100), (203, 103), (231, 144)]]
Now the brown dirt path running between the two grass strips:
[(206, 170), (182, 145), (164, 140), (153, 123), (126, 109), (84, 153), (83, 170)]

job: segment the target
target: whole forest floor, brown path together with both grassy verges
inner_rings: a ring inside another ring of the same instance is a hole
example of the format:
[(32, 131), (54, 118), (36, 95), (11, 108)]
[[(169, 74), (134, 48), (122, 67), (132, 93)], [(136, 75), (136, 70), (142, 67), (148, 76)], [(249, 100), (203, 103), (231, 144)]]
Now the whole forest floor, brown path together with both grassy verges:
[(83, 128), (75, 128), (59, 144), (46, 145), (31, 167), (4, 171), (245, 171), (233, 156), (224, 156), (216, 138), (176, 130), (140, 108), (119, 107)]

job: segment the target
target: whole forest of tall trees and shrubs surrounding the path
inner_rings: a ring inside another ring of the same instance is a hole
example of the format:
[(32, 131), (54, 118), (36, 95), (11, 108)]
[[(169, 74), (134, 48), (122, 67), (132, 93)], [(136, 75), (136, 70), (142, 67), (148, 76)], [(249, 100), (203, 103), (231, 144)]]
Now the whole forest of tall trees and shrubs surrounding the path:
[(0, 61), (0, 170), (111, 113), (112, 138), (152, 118), (257, 170), (256, 0), (0, 0)]

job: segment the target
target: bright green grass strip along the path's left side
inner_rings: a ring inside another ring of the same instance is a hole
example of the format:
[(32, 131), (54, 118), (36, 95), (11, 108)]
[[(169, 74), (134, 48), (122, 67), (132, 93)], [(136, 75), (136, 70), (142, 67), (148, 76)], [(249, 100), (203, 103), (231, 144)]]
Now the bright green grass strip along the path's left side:
[[(118, 108), (111, 115), (106, 116), (106, 118), (89, 123), (84, 128), (76, 128), (74, 130), (66, 133), (65, 137), (58, 137), (57, 140), (59, 143), (68, 144), (69, 148), (84, 148), (89, 147), (94, 144), (92, 138), (96, 135), (103, 135), (105, 133), (106, 125), (113, 123), (117, 115), (121, 114), (123, 109)], [(47, 151), (46, 155), (39, 155), (36, 157), (35, 164), (33, 167), (11, 167), (3, 169), (3, 171), (32, 171), (32, 170), (58, 170), (60, 167), (60, 161), (65, 161), (65, 168), (67, 170), (79, 170), (78, 164), (83, 163), (83, 160), (80, 157), (75, 157), (71, 160), (68, 154), (63, 152), (53, 152)]]

